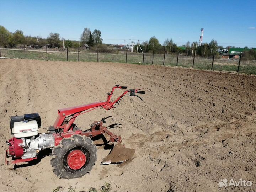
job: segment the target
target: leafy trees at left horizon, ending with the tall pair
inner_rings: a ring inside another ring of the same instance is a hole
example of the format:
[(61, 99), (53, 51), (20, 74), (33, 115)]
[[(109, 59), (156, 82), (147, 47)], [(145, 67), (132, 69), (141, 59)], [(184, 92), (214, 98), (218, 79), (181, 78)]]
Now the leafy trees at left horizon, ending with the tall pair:
[[(16, 30), (14, 33), (8, 31), (4, 26), (0, 25), (0, 46), (16, 47), (18, 45), (52, 45), (52, 48), (60, 48), (63, 46), (68, 48), (77, 48), (79, 46), (78, 40), (65, 40), (60, 37), (59, 33), (50, 33), (47, 38), (40, 36), (32, 37), (31, 35), (24, 35), (22, 30)], [(99, 46), (102, 44), (101, 31), (95, 29), (93, 32), (90, 28), (85, 28), (81, 34), (80, 45), (88, 44), (90, 47)]]

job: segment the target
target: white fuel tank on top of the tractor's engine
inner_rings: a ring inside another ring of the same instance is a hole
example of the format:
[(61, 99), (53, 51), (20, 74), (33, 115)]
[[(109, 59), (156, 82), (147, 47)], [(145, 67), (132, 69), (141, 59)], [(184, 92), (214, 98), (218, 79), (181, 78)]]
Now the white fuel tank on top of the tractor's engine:
[(38, 125), (35, 120), (28, 121), (20, 121), (15, 122), (14, 127), (12, 128), (12, 133), (14, 137), (21, 138), (21, 137), (31, 137), (38, 134)]

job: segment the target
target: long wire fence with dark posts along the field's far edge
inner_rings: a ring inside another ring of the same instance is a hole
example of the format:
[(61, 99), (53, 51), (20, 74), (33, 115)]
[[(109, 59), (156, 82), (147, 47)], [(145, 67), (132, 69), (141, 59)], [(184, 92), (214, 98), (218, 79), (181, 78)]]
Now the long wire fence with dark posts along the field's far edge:
[(39, 60), (59, 60), (59, 61), (87, 61), (87, 62), (120, 62), (136, 64), (156, 64), (193, 67), (195, 69), (207, 70), (225, 70), (237, 71), (240, 73), (256, 75), (256, 60), (243, 60), (240, 55), (239, 59), (217, 59), (213, 55), (210, 59), (183, 56), (182, 53), (155, 54), (153, 53), (132, 53), (117, 52), (116, 54), (105, 53), (105, 49), (97, 48), (95, 53), (79, 49), (62, 49), (56, 51), (53, 49), (0, 49), (0, 57), (9, 58), (26, 58)]

